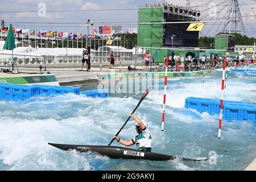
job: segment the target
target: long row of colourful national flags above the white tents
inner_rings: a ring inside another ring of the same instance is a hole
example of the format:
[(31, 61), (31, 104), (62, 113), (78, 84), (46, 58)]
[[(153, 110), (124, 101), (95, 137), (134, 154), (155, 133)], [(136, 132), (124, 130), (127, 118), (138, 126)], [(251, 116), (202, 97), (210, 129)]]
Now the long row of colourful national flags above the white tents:
[[(0, 29), (0, 32), (2, 31), (2, 33), (6, 34), (8, 33), (8, 27), (6, 28), (2, 28), (2, 30)], [(101, 36), (98, 36), (98, 35), (91, 35), (89, 34), (88, 36), (86, 35), (82, 35), (81, 33), (80, 34), (73, 34), (73, 32), (53, 32), (53, 31), (48, 31), (45, 30), (45, 31), (42, 31), (42, 30), (39, 30), (36, 34), (36, 31), (35, 29), (32, 30), (31, 32), (28, 32), (29, 29), (24, 29), (24, 28), (15, 28), (13, 27), (13, 32), (16, 33), (16, 34), (30, 34), (30, 35), (38, 35), (38, 36), (48, 36), (48, 37), (58, 37), (58, 38), (68, 38), (68, 39), (105, 39), (105, 40), (121, 40), (121, 37), (118, 37), (118, 36), (110, 36), (110, 35), (101, 35)]]

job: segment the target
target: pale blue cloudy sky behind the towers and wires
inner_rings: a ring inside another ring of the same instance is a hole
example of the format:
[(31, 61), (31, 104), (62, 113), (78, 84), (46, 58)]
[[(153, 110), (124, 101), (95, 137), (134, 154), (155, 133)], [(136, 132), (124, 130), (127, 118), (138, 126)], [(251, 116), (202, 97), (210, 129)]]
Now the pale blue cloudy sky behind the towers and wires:
[[(93, 21), (93, 26), (89, 28), (90, 32), (92, 32), (92, 27), (98, 28), (99, 26), (108, 25), (122, 25), (123, 31), (128, 31), (129, 28), (137, 28), (138, 26), (138, 7), (144, 7), (146, 3), (163, 2), (186, 6), (187, 1), (188, 0), (0, 0), (0, 19), (5, 20), (6, 26), (12, 22), (13, 26), (16, 28), (30, 28), (30, 30), (35, 28), (36, 31), (52, 30), (58, 32), (86, 33), (87, 28), (85, 23), (88, 19)], [(246, 35), (256, 37), (256, 0), (238, 1), (241, 5), (240, 10), (243, 16)], [(228, 0), (190, 0), (190, 6), (192, 9), (200, 10), (200, 19), (216, 20), (225, 16), (227, 9), (222, 10), (222, 8), (225, 7), (223, 5), (225, 5), (226, 2), (228, 2)], [(44, 7), (46, 12), (42, 11)], [(117, 9), (130, 10), (116, 11)], [(55, 10), (55, 12), (51, 12), (52, 10)], [(63, 12), (62, 10), (68, 10), (68, 12)], [(220, 11), (220, 13), (218, 13), (218, 11)], [(201, 31), (202, 34), (200, 35), (214, 36), (217, 28), (220, 28), (218, 23), (208, 23), (203, 31)]]

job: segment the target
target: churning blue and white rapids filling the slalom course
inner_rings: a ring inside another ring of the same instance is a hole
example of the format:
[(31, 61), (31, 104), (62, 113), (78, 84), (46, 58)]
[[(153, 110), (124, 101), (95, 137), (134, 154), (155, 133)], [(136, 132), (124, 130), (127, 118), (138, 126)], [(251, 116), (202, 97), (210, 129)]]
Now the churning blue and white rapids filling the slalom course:
[[(224, 121), (218, 139), (218, 115), (184, 108), (187, 97), (219, 98), (221, 76), (221, 72), (205, 76), (204, 85), (201, 77), (185, 78), (182, 84), (180, 78), (169, 78), (164, 132), (163, 79), (158, 81), (160, 90), (151, 90), (135, 113), (147, 121), (154, 152), (209, 158), (214, 151), (216, 164), (109, 159), (49, 146), (48, 142), (108, 144), (141, 97), (141, 93), (110, 93), (110, 98), (97, 99), (67, 94), (18, 103), (0, 101), (0, 170), (243, 170), (256, 158), (255, 123)], [(255, 76), (246, 80), (244, 75), (232, 74), (224, 97), (256, 104)], [(134, 135), (134, 121), (130, 121), (119, 137), (129, 140)]]

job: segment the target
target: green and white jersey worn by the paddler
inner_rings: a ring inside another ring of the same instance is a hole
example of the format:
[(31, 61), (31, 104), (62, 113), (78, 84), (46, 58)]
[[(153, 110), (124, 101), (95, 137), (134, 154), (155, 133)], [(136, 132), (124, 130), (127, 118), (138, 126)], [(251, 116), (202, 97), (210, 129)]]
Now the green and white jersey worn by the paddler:
[(141, 131), (136, 137), (131, 139), (134, 144), (136, 144), (138, 150), (143, 150), (145, 148), (151, 148), (151, 135), (150, 131), (147, 129), (147, 127), (144, 128), (144, 130)]

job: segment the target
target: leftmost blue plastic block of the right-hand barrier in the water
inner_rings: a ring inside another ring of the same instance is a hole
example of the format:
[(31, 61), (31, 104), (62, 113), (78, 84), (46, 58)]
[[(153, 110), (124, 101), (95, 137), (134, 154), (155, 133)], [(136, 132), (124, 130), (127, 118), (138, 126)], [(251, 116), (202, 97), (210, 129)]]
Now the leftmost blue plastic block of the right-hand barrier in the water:
[(196, 109), (200, 113), (208, 112), (213, 114), (214, 101), (216, 101), (214, 98), (188, 97), (185, 100), (185, 107)]

